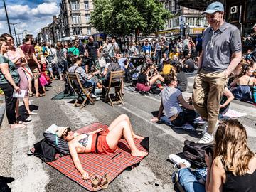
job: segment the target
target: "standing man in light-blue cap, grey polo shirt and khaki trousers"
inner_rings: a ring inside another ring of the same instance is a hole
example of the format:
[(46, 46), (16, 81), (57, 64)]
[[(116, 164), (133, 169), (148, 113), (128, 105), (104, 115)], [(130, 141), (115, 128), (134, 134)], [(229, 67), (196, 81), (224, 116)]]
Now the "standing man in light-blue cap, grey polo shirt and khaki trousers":
[(223, 19), (223, 4), (213, 2), (204, 13), (210, 27), (203, 32), (203, 51), (193, 85), (193, 105), (208, 121), (208, 129), (198, 143), (213, 142), (226, 79), (242, 59), (240, 31)]

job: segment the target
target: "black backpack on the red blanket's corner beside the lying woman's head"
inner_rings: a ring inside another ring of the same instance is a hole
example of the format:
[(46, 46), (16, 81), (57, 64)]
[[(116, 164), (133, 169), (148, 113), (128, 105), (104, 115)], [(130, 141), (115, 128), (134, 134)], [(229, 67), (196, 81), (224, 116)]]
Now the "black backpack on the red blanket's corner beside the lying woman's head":
[(28, 156), (37, 156), (39, 157), (42, 161), (45, 162), (51, 162), (56, 160), (55, 159), (55, 148), (48, 144), (46, 142), (46, 139), (41, 140), (40, 142), (37, 142), (34, 144), (34, 149), (35, 151), (31, 151), (31, 154), (28, 154)]

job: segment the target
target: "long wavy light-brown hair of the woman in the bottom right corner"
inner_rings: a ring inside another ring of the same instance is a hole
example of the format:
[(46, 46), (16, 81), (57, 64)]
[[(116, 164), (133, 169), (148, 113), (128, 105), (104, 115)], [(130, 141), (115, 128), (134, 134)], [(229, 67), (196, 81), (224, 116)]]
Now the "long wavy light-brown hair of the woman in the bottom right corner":
[(237, 119), (221, 123), (215, 134), (214, 156), (221, 157), (225, 171), (242, 176), (249, 170), (249, 162), (255, 154), (247, 146), (245, 127)]

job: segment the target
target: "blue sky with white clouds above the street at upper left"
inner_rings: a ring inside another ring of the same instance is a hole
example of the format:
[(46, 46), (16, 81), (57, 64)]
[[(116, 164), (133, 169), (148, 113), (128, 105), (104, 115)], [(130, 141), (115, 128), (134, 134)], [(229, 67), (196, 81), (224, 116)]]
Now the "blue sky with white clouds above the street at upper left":
[[(60, 0), (5, 0), (10, 23), (16, 25), (16, 33), (27, 30), (36, 35), (41, 28), (48, 26), (53, 21), (53, 15), (59, 14)], [(13, 26), (11, 31), (14, 33)], [(0, 34), (9, 33), (6, 24), (4, 3), (0, 1)]]

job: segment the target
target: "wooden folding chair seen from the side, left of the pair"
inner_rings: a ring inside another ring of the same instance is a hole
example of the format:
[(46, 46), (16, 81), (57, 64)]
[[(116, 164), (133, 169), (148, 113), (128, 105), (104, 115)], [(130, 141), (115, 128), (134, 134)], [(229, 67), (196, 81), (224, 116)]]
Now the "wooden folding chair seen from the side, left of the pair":
[[(80, 108), (85, 107), (87, 99), (89, 99), (92, 104), (94, 104), (94, 101), (90, 97), (92, 87), (83, 87), (82, 83), (80, 82), (78, 73), (67, 73), (67, 76), (70, 87), (73, 87), (73, 90), (75, 90), (75, 92), (78, 94), (78, 98), (75, 100), (74, 106)], [(80, 101), (82, 101), (82, 104), (80, 103)]]

